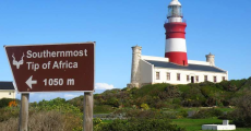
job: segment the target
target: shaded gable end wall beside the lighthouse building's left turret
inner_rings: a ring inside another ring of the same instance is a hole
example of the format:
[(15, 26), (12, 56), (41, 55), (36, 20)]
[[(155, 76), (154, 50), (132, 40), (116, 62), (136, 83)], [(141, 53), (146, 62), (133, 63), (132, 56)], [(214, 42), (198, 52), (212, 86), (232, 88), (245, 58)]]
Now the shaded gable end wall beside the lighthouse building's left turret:
[(141, 83), (153, 83), (153, 66), (148, 62), (141, 60), (140, 69), (141, 69)]

